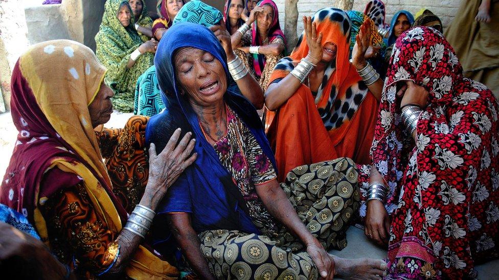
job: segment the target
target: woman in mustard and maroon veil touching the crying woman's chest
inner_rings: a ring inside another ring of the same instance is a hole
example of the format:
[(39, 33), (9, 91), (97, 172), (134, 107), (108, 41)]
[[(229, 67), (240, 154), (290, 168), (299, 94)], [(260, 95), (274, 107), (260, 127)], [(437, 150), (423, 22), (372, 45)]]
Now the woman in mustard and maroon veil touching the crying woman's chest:
[(24, 214), (80, 278), (173, 279), (176, 268), (141, 245), (150, 224), (136, 212), (152, 219), (168, 187), (195, 160), (194, 142), (187, 145), (186, 137), (158, 156), (152, 146), (145, 187), (111, 186), (94, 132), (112, 112), (105, 73), (92, 50), (69, 40), (36, 44), (19, 58), (11, 103), (19, 135), (0, 203)]

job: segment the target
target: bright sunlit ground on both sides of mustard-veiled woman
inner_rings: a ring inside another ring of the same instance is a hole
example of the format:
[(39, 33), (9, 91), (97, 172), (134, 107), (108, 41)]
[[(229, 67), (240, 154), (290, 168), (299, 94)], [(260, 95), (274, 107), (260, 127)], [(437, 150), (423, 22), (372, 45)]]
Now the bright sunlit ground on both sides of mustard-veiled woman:
[[(126, 120), (131, 116), (132, 113), (119, 113), (115, 111), (111, 114), (111, 119), (105, 126), (106, 128), (122, 128)], [(9, 166), (16, 137), (17, 130), (12, 122), (10, 112), (0, 114), (0, 178), (4, 177), (5, 170)]]

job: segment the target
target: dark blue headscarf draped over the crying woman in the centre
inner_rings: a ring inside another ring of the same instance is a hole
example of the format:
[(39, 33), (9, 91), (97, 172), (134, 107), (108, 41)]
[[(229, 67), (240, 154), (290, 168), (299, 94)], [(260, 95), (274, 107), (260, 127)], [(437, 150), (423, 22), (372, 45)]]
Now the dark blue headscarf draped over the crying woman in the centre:
[[(179, 94), (175, 81), (173, 59), (176, 50), (182, 47), (194, 47), (209, 52), (222, 63), (225, 74), (229, 77), (225, 52), (213, 32), (199, 24), (190, 22), (175, 24), (165, 36), (158, 45), (154, 64), (167, 110), (149, 120), (146, 142), (154, 143), (159, 153), (174, 130), (180, 127), (183, 134), (191, 131), (196, 138), (194, 151), (197, 152), (197, 159), (170, 187), (165, 199), (156, 210), (158, 216), (170, 212), (191, 213), (192, 226), (198, 233), (227, 229), (259, 234), (246, 212), (243, 196), (234, 184), (231, 173), (220, 163), (215, 149), (201, 131), (198, 117), (189, 104), (187, 95)], [(165, 92), (169, 92), (169, 96), (166, 96)], [(255, 107), (246, 98), (231, 90), (226, 91), (223, 98), (253, 133), (263, 152), (276, 168), (273, 152)], [(165, 225), (163, 222), (155, 224)], [(161, 242), (167, 239), (164, 233), (163, 235)], [(157, 242), (156, 238), (155, 243)]]

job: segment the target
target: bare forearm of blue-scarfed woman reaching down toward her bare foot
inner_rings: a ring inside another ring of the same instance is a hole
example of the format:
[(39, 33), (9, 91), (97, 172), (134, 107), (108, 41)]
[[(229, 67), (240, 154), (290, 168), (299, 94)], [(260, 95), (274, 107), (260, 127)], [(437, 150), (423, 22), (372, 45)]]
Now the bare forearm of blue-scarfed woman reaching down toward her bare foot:
[(332, 277), (334, 275), (334, 261), (332, 257), (325, 251), (319, 240), (307, 230), (277, 180), (274, 179), (257, 185), (255, 189), (270, 215), (280, 221), (293, 235), (297, 236), (305, 244), (307, 252), (310, 254), (321, 276), (326, 277), (330, 275)]

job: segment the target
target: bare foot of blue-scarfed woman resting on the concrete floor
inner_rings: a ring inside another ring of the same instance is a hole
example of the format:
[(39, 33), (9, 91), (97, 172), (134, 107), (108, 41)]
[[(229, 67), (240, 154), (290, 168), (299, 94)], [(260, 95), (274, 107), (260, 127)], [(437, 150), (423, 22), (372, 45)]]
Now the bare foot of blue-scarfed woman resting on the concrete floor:
[(369, 258), (342, 259), (333, 256), (336, 275), (345, 279), (382, 279), (387, 263)]

